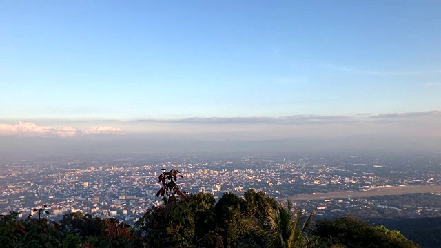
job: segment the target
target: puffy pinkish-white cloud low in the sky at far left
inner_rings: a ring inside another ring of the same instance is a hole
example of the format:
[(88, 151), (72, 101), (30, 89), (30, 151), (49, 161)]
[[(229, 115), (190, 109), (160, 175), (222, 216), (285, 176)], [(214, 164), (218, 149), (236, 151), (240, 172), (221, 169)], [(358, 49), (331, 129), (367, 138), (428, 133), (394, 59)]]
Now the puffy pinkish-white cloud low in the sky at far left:
[(117, 127), (76, 129), (74, 127), (42, 126), (33, 122), (24, 121), (19, 121), (17, 124), (0, 123), (0, 135), (2, 136), (58, 136), (68, 138), (89, 134), (124, 134), (124, 132)]

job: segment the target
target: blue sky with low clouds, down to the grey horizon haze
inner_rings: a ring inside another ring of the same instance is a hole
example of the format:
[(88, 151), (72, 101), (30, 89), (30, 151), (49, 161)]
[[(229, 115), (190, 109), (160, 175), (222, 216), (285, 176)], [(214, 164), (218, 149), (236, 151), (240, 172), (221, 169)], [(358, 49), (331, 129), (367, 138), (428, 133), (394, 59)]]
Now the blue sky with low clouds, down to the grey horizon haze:
[(0, 139), (425, 143), (441, 138), (440, 13), (428, 0), (3, 0)]

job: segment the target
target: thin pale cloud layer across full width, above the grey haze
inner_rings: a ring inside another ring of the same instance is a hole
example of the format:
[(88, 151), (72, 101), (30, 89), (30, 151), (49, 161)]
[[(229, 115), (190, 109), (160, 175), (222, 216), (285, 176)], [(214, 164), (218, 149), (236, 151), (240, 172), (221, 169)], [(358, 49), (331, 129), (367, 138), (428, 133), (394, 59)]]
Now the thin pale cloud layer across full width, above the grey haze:
[[(380, 115), (356, 114), (352, 116), (214, 116), (176, 119), (144, 118), (133, 121), (31, 121), (20, 121), (16, 124), (0, 123), (0, 135), (68, 138), (127, 134), (126, 138), (127, 136), (143, 138), (145, 135), (154, 135), (161, 136), (161, 138), (194, 140), (263, 140), (351, 136), (371, 136), (372, 138), (376, 136), (441, 137), (440, 110)], [(75, 127), (72, 127), (74, 125)], [(112, 127), (112, 125), (119, 127)]]

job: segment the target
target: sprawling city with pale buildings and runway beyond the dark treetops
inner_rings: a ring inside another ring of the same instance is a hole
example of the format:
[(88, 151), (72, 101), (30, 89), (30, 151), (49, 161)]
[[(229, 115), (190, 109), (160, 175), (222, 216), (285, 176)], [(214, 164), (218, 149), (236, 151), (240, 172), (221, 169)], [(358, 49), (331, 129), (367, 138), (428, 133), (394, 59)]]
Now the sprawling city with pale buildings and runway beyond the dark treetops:
[[(441, 216), (441, 156), (192, 155), (112, 161), (16, 161), (1, 165), (0, 214), (27, 216), (48, 205), (49, 218), (81, 211), (134, 223), (161, 205), (158, 174), (178, 169), (178, 186), (218, 200), (254, 189), (318, 216), (419, 218)], [(405, 200), (405, 204), (404, 201)]]

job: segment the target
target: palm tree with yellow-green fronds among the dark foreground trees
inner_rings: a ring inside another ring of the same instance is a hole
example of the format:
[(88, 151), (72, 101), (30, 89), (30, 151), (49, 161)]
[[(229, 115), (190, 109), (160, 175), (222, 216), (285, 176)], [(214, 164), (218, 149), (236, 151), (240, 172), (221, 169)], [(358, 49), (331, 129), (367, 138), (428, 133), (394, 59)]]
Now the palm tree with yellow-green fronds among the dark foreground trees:
[(244, 240), (240, 247), (311, 247), (313, 245), (309, 242), (307, 231), (313, 216), (314, 212), (305, 214), (303, 211), (294, 211), (290, 200), (286, 206), (279, 203), (276, 209), (268, 205), (265, 223), (245, 220), (251, 238)]

